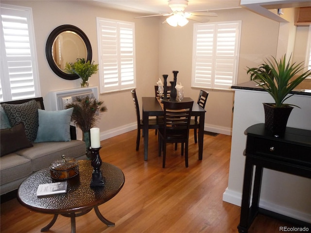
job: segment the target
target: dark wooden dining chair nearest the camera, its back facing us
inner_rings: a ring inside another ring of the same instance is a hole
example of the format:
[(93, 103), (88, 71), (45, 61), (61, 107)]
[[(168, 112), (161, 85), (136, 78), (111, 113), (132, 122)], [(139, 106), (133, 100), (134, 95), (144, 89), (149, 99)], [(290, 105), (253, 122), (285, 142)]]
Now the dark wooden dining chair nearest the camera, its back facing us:
[(188, 167), (188, 145), (190, 117), (193, 101), (189, 102), (169, 102), (164, 101), (164, 122), (163, 127), (158, 129), (159, 134), (159, 156), (163, 149), (163, 168), (166, 159), (166, 144), (180, 142), (181, 154), (184, 152), (185, 144), (185, 164)]

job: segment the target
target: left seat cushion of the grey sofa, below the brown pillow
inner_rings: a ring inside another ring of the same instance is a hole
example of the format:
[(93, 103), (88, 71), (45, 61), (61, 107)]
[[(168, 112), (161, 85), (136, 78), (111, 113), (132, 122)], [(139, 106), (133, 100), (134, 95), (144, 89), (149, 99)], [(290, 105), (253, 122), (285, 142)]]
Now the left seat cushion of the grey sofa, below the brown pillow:
[[(32, 174), (30, 159), (11, 153), (1, 157), (0, 183), (8, 183)], [(1, 190), (2, 191), (2, 190)]]

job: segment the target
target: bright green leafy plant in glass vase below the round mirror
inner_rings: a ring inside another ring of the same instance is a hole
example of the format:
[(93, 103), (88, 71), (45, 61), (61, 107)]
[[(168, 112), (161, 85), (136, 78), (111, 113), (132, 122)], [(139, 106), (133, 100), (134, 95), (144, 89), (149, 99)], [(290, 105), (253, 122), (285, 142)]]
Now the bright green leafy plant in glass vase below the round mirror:
[(65, 72), (69, 74), (76, 74), (80, 78), (81, 87), (88, 86), (88, 78), (98, 71), (98, 64), (94, 61), (86, 61), (84, 58), (77, 58), (75, 63), (66, 63)]

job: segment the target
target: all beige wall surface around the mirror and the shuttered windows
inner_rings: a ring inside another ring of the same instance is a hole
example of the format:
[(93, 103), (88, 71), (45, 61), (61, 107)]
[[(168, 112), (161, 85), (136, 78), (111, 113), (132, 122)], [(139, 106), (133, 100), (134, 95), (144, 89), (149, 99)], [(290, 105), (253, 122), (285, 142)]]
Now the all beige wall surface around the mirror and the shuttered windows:
[[(136, 69), (137, 92), (141, 106), (142, 96), (153, 96), (155, 85), (162, 74), (169, 74), (173, 80), (173, 70), (178, 70), (177, 82), (185, 86), (186, 96), (197, 99), (198, 89), (192, 89), (191, 59), (192, 30), (194, 21), (183, 28), (173, 28), (162, 24), (165, 17), (137, 18), (135, 13), (122, 12), (103, 7), (96, 1), (5, 1), (1, 3), (31, 7), (33, 10), (35, 40), (40, 76), (41, 95), (49, 109), (49, 92), (78, 88), (79, 81), (68, 81), (55, 75), (45, 56), (45, 44), (52, 30), (63, 24), (79, 27), (88, 36), (93, 50), (93, 60), (98, 63), (96, 17), (105, 17), (135, 22), (136, 29)], [(246, 9), (217, 11), (218, 17), (210, 17), (210, 22), (242, 20), (241, 47), (238, 83), (248, 81), (246, 67), (255, 67), (263, 58), (276, 55), (279, 23), (261, 17)], [(91, 86), (99, 86), (98, 74), (90, 78)], [(207, 90), (206, 130), (231, 133), (234, 92)], [(133, 127), (135, 111), (129, 91), (100, 95), (108, 112), (98, 123), (101, 132)], [(124, 115), (124, 112), (126, 114)]]

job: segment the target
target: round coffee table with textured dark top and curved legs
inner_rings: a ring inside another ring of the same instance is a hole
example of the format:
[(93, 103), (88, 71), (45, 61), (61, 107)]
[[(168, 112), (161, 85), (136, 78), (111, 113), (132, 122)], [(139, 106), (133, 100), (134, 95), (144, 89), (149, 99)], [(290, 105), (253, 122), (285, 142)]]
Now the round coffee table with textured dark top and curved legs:
[(112, 199), (121, 190), (124, 184), (124, 174), (120, 168), (102, 163), (101, 166), (104, 187), (90, 187), (93, 167), (91, 161), (79, 161), (79, 175), (68, 179), (67, 193), (45, 197), (37, 197), (36, 191), (41, 183), (58, 182), (51, 178), (50, 167), (43, 168), (28, 177), (18, 188), (19, 202), (40, 213), (54, 214), (52, 221), (41, 232), (48, 231), (55, 223), (57, 216), (71, 218), (71, 233), (75, 233), (75, 217), (82, 216), (95, 210), (98, 218), (107, 226), (115, 223), (107, 220), (100, 213), (98, 206)]

